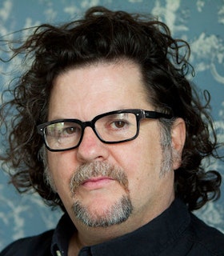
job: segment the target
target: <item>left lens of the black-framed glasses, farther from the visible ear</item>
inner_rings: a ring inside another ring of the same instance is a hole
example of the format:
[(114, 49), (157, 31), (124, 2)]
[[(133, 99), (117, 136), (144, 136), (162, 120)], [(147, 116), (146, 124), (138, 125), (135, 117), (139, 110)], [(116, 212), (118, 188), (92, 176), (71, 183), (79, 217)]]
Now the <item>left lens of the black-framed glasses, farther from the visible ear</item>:
[(75, 122), (56, 122), (46, 126), (44, 132), (51, 150), (65, 150), (78, 145), (82, 127)]

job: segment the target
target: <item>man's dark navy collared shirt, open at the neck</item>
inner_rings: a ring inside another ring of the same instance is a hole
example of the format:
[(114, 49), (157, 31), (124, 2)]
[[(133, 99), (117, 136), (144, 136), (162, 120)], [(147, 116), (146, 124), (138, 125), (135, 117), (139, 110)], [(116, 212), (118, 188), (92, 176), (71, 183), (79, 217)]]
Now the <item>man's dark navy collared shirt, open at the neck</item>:
[[(74, 231), (73, 223), (65, 214), (55, 230), (22, 238), (6, 247), (0, 256), (65, 256)], [(145, 226), (108, 242), (86, 246), (78, 255), (224, 256), (224, 234), (207, 226), (176, 199)]]

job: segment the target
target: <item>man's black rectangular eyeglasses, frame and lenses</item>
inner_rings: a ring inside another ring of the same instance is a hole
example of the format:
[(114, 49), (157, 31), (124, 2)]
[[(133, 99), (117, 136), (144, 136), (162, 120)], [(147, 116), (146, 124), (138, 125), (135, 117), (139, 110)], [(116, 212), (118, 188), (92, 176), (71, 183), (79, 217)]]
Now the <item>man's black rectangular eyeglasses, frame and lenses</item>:
[(101, 142), (112, 144), (134, 140), (139, 134), (139, 124), (143, 118), (172, 118), (147, 110), (117, 110), (99, 114), (92, 121), (78, 119), (58, 119), (38, 125), (38, 134), (50, 151), (71, 150), (80, 145), (84, 130), (90, 126)]

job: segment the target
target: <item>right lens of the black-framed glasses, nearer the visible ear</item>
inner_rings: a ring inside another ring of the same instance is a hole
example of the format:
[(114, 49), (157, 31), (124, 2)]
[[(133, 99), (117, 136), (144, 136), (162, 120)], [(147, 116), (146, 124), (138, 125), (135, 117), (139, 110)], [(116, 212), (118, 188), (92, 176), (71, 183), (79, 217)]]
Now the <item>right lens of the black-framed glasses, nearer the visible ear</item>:
[(133, 113), (108, 114), (95, 122), (95, 130), (104, 142), (122, 142), (137, 134), (137, 119)]

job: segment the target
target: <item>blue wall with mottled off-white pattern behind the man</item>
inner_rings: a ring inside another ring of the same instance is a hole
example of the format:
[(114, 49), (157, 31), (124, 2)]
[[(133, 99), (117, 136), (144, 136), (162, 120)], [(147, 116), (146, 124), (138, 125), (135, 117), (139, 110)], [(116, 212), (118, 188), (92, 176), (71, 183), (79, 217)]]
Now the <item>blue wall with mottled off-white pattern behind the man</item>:
[[(174, 37), (184, 38), (192, 47), (194, 82), (210, 90), (218, 138), (224, 141), (224, 1), (223, 0), (1, 0), (0, 36), (42, 22), (67, 22), (80, 18), (90, 6), (150, 13), (170, 26)], [(13, 38), (14, 35), (12, 34)], [(2, 55), (2, 54), (1, 54)], [(0, 92), (9, 77), (19, 71), (19, 60), (0, 66)], [(4, 150), (1, 148), (1, 150)], [(223, 162), (212, 162), (224, 178)], [(0, 172), (0, 251), (6, 244), (27, 235), (53, 228), (61, 216), (51, 211), (36, 194), (18, 195)], [(206, 223), (224, 233), (224, 186), (218, 202), (198, 214)]]

